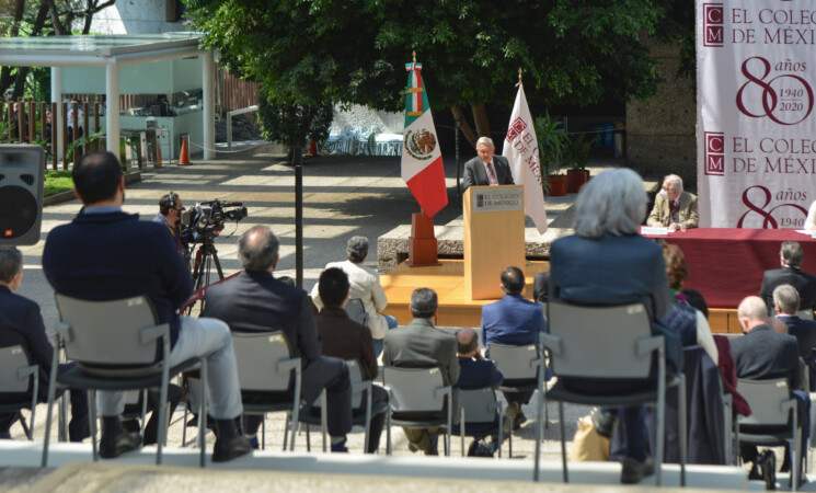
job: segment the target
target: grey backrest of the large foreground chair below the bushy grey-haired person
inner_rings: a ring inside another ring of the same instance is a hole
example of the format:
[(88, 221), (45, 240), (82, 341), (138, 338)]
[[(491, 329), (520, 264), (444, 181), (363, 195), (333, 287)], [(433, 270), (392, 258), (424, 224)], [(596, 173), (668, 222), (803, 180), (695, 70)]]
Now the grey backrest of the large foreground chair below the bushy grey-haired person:
[(550, 353), (559, 377), (648, 377), (652, 354), (639, 355), (637, 344), (632, 344), (652, 336), (652, 320), (643, 303), (582, 307), (550, 300), (548, 310), (551, 337), (542, 339), (548, 347), (559, 346)]

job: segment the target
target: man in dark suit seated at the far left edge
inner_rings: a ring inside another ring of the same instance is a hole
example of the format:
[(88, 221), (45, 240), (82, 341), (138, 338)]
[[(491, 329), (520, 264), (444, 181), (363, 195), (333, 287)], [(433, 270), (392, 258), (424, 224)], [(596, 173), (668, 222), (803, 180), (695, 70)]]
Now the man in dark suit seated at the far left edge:
[[(37, 402), (48, 402), (48, 381), (51, 375), (54, 346), (45, 334), (39, 306), (13, 293), (22, 282), (23, 254), (14, 246), (0, 248), (0, 347), (21, 345), (28, 355), (28, 363), (39, 366)], [(73, 364), (59, 365), (57, 371), (67, 371), (72, 366)], [(58, 395), (62, 392), (62, 389), (57, 389)], [(1, 398), (0, 402), (2, 402)], [(11, 438), (9, 428), (19, 417), (18, 412), (0, 413), (0, 438)], [(68, 423), (68, 439), (82, 442), (89, 436), (91, 432), (88, 426), (88, 398), (84, 390), (71, 389), (71, 422)]]

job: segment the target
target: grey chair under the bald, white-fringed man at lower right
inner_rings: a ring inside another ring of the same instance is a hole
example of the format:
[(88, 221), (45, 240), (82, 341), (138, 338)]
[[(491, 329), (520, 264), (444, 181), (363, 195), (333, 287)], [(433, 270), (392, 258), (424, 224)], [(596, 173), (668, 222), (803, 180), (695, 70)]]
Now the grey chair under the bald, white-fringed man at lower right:
[(750, 416), (737, 416), (739, 444), (779, 446), (793, 440), (791, 488), (798, 489), (802, 456), (802, 424), (796, 413), (796, 399), (785, 378), (774, 380), (737, 380), (737, 391), (751, 408)]

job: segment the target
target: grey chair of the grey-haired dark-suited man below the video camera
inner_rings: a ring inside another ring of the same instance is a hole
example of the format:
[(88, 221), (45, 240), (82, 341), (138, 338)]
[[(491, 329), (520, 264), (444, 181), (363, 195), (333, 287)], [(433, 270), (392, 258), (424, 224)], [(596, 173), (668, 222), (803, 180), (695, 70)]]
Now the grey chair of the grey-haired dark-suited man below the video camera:
[[(244, 414), (288, 412), (291, 416), (291, 444), (300, 414), (301, 360), (291, 357), (289, 343), (280, 331), (233, 332), (232, 347), (238, 360), (238, 380), (242, 392), (269, 393), (268, 402), (243, 404)], [(202, 419), (199, 416), (199, 423)], [(266, 447), (266, 420), (262, 424), (261, 447)], [(289, 436), (289, 420), (284, 432), (284, 450)]]

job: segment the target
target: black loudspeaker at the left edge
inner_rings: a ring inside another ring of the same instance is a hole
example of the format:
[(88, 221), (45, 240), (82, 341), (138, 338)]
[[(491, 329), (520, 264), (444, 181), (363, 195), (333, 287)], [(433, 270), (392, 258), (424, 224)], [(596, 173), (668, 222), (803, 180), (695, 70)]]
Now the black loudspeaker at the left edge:
[(43, 221), (45, 150), (0, 145), (0, 245), (35, 244)]

